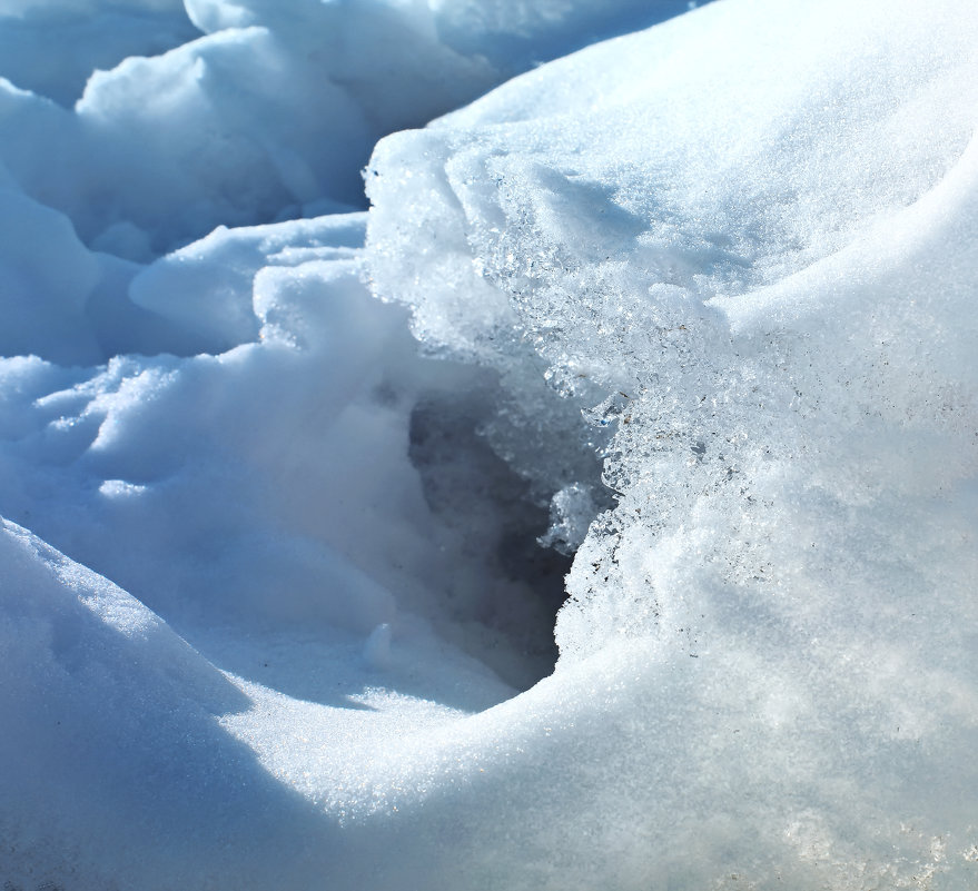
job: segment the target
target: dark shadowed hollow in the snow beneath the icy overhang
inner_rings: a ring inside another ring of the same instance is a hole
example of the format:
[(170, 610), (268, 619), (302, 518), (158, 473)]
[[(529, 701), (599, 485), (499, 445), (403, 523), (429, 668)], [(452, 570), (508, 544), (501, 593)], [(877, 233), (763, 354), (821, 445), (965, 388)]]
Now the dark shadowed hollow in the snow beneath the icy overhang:
[[(439, 592), (438, 631), (526, 690), (557, 656), (553, 630), (572, 557), (540, 545), (547, 507), (490, 447), (473, 394), (438, 394), (411, 418), (409, 456), (455, 570)], [(484, 410), (483, 410), (484, 414)]]

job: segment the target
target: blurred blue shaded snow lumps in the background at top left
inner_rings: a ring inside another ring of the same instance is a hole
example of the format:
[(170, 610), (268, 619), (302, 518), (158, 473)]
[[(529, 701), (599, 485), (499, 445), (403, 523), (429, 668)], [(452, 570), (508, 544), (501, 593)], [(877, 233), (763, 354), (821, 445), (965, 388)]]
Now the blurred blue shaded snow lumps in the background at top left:
[(683, 4), (614, 6), (7, 4), (0, 161), (85, 244), (138, 261), (221, 224), (355, 209), (381, 136)]

